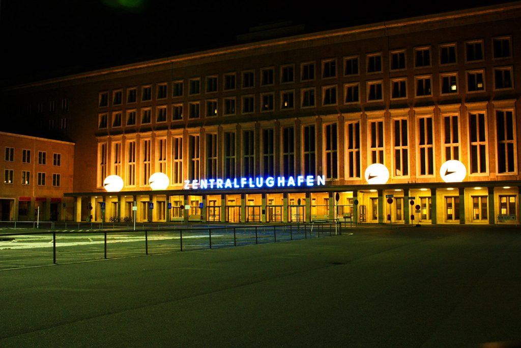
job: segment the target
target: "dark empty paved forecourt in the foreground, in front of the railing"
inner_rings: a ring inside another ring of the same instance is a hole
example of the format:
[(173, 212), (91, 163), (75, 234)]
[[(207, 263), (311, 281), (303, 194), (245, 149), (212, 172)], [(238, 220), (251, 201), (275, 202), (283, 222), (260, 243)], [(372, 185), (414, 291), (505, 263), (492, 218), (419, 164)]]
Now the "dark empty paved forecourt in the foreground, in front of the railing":
[(0, 347), (521, 343), (519, 227), (346, 232), (0, 271)]

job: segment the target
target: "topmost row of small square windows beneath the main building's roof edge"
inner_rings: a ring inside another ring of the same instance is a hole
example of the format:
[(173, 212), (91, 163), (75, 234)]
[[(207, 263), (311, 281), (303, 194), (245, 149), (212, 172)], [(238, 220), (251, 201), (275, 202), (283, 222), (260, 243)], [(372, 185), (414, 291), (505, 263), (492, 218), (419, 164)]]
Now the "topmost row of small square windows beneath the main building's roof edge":
[[(494, 59), (512, 57), (511, 37), (499, 37), (492, 39), (492, 57)], [(484, 60), (483, 40), (466, 41), (465, 45), (465, 62), (480, 62)], [(415, 47), (412, 52), (415, 68), (432, 66), (431, 46)], [(359, 55), (346, 56), (342, 58), (342, 71), (338, 71), (337, 58), (321, 59), (320, 69), (318, 73), (320, 78), (336, 78), (339, 75), (352, 76), (359, 75), (360, 69), (363, 68)], [(407, 50), (392, 50), (389, 53), (389, 69), (404, 70), (407, 68)], [(448, 43), (439, 46), (439, 64), (450, 65), (457, 63), (457, 44)], [(365, 71), (367, 74), (381, 73), (383, 71), (383, 57), (381, 52), (369, 53), (365, 56)], [(299, 69), (300, 68), (300, 69)], [(276, 71), (278, 76), (276, 77)], [(141, 86), (140, 100), (151, 101), (164, 100), (171, 95), (172, 98), (182, 97), (183, 95), (198, 95), (203, 91), (205, 93), (215, 93), (218, 91), (233, 91), (238, 88), (250, 89), (256, 86), (256, 78), (259, 79), (260, 86), (273, 86), (276, 81), (280, 84), (296, 82), (296, 75), (300, 81), (309, 81), (316, 79), (316, 63), (304, 62), (299, 65), (286, 64), (281, 65), (278, 69), (275, 67), (265, 67), (259, 69), (259, 75), (256, 76), (256, 70), (244, 70), (240, 73), (230, 72), (222, 75), (209, 75), (204, 78), (189, 78), (187, 83), (184, 80), (176, 80), (169, 84), (168, 82), (160, 82), (154, 85)], [(203, 86), (204, 83), (204, 86)], [(170, 86), (170, 93), (168, 88)], [(154, 91), (153, 91), (153, 87)], [(155, 94), (153, 94), (153, 92)], [(123, 89), (111, 91), (102, 91), (99, 95), (98, 106), (107, 107), (109, 105), (109, 97), (111, 105), (123, 104)], [(127, 104), (138, 101), (138, 87), (130, 87), (126, 89)], [(40, 106), (39, 106), (40, 109)]]

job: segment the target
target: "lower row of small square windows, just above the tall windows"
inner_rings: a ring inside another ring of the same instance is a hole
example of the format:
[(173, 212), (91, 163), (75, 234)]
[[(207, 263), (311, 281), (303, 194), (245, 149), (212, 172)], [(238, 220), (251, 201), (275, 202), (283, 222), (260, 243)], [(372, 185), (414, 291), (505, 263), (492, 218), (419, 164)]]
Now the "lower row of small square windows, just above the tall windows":
[[(484, 92), (485, 70), (467, 71), (466, 89), (467, 93)], [(390, 99), (409, 98), (410, 89), (407, 78), (393, 78), (389, 83)], [(494, 90), (508, 90), (513, 88), (513, 68), (502, 67), (494, 68), (493, 75)], [(440, 74), (440, 94), (451, 95), (460, 93), (459, 79), (457, 73)], [(242, 95), (239, 101), (235, 97), (218, 99), (208, 99), (206, 101), (191, 101), (188, 103), (176, 103), (170, 107), (159, 105), (154, 108), (144, 107), (139, 110), (126, 111), (126, 119), (123, 119), (123, 112), (116, 111), (109, 114), (101, 113), (98, 115), (98, 128), (121, 127), (123, 125), (133, 126), (140, 124), (150, 124), (152, 122), (181, 121), (185, 117), (196, 119), (201, 117), (216, 117), (218, 115), (231, 116), (237, 114), (251, 114), (255, 112), (272, 112), (277, 110), (294, 110), (296, 105), (301, 108), (321, 106), (333, 106), (350, 103), (360, 103), (361, 93), (365, 92), (367, 102), (382, 101), (384, 99), (383, 81), (367, 81), (365, 91), (361, 90), (360, 83), (345, 83), (343, 95), (339, 96), (338, 86), (323, 86), (321, 88), (320, 102), (317, 103), (316, 88), (303, 88), (300, 90), (300, 101), (297, 99), (294, 90), (281, 91), (276, 102), (274, 92), (261, 93), (259, 95)], [(433, 95), (432, 76), (416, 76), (414, 78), (415, 98), (431, 97)], [(342, 98), (340, 101), (339, 98)], [(297, 104), (299, 103), (299, 104)], [(257, 105), (260, 104), (260, 105)], [(278, 106), (277, 106), (278, 104)], [(170, 111), (170, 115), (169, 114)], [(154, 114), (153, 114), (154, 112)]]

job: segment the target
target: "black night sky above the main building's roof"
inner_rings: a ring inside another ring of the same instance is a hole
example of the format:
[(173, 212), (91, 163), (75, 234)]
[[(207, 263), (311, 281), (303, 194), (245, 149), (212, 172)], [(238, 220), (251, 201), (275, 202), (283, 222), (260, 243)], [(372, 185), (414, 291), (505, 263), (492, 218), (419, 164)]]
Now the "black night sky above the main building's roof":
[(0, 1), (3, 85), (233, 44), (235, 35), (273, 21), (315, 31), (508, 2)]

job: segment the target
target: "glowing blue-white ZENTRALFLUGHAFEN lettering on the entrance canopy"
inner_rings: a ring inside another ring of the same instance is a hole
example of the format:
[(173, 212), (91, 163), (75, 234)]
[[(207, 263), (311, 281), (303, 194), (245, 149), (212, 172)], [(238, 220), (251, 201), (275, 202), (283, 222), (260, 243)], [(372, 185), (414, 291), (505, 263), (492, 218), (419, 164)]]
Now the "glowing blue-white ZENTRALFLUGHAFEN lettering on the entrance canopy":
[(226, 189), (226, 188), (271, 188), (271, 187), (311, 187), (324, 186), (326, 177), (324, 175), (298, 175), (268, 176), (264, 177), (241, 177), (234, 179), (201, 179), (185, 180), (184, 189)]

